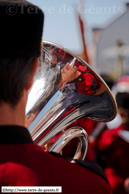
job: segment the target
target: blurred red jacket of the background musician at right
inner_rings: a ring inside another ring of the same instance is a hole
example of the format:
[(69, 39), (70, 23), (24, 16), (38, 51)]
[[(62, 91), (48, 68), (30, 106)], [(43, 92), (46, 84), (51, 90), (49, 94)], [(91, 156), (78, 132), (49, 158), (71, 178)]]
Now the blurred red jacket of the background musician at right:
[(124, 181), (129, 177), (129, 129), (124, 125), (105, 131), (99, 140), (101, 158), (113, 193), (125, 194)]

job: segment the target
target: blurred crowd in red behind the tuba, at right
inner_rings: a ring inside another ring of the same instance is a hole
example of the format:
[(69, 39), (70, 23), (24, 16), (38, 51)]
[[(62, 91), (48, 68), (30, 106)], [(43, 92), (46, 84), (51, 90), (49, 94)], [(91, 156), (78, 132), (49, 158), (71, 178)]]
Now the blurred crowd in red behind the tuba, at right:
[[(129, 76), (116, 83), (109, 76), (102, 77), (116, 99), (117, 116), (109, 123), (97, 123), (89, 134), (89, 144), (113, 194), (129, 193)], [(87, 159), (91, 160), (90, 154)]]

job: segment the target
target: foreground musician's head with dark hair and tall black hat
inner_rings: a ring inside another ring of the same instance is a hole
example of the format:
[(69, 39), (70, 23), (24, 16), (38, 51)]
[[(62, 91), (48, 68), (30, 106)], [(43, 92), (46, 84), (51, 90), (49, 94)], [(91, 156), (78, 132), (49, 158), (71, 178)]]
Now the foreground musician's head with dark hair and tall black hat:
[(25, 0), (0, 1), (0, 103), (17, 105), (40, 56), (44, 14)]

